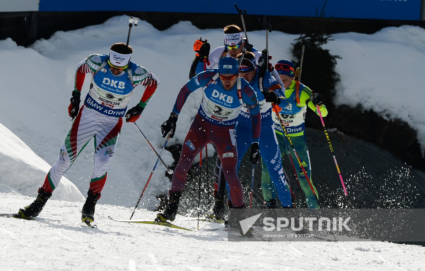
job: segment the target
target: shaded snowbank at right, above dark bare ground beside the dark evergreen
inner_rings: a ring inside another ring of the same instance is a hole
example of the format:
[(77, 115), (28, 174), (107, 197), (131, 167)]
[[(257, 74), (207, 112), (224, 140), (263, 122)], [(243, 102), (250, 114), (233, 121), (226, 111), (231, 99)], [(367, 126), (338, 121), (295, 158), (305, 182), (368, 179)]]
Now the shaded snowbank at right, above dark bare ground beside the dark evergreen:
[(424, 154), (425, 29), (402, 25), (374, 34), (333, 34), (332, 38), (323, 47), (342, 56), (337, 59), (341, 81), (335, 104), (360, 105), (385, 119), (405, 121), (417, 131)]

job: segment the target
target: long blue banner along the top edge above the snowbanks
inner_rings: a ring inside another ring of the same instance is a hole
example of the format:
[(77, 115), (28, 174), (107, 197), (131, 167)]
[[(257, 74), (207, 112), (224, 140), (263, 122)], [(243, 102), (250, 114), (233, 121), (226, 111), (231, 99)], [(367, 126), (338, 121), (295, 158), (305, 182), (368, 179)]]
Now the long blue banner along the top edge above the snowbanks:
[[(267, 1), (141, 1), (40, 0), (39, 11), (155, 11), (237, 14), (234, 3), (251, 15), (316, 17), (325, 0)], [(421, 0), (328, 0), (324, 17), (379, 20), (420, 20)], [(129, 14), (131, 15), (131, 14)], [(141, 18), (143, 19), (143, 18)]]

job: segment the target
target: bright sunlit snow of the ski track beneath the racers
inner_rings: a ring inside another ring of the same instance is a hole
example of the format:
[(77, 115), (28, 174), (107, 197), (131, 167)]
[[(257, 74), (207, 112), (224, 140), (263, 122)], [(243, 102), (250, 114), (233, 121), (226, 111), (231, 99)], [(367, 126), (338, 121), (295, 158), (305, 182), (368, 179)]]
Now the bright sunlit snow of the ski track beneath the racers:
[[(5, 212), (34, 198), (0, 193)], [(188, 220), (175, 224), (193, 232), (115, 222), (131, 208), (97, 204), (97, 228), (78, 226), (82, 202), (49, 200), (38, 221), (0, 217), (2, 270), (424, 270), (425, 248), (386, 242), (227, 241), (220, 224)], [(151, 220), (137, 210), (133, 220)], [(59, 220), (59, 221), (58, 221)], [(244, 239), (243, 239), (244, 240)]]

